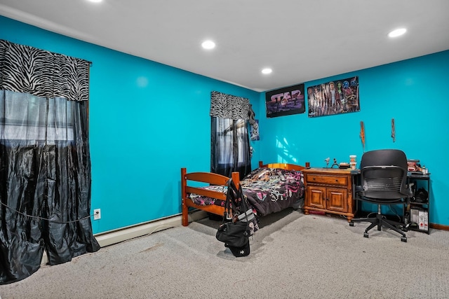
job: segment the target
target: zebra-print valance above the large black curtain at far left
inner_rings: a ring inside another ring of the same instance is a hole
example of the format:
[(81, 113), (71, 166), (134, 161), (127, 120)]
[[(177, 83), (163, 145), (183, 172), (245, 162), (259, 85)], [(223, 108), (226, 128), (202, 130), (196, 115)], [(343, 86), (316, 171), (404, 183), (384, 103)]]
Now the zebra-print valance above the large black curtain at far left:
[(0, 89), (37, 97), (89, 98), (90, 62), (0, 40)]

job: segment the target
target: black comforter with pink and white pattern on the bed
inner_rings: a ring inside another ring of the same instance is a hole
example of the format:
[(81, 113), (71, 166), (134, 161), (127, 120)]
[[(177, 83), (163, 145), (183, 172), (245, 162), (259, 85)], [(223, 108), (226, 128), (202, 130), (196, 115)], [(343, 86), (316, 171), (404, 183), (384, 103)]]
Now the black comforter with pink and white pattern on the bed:
[[(240, 183), (248, 202), (260, 216), (293, 207), (304, 197), (304, 175), (295, 170), (260, 167), (250, 172)], [(227, 193), (227, 187), (224, 186), (204, 188)], [(224, 201), (215, 198), (196, 194), (190, 194), (190, 198), (199, 205), (225, 206)]]

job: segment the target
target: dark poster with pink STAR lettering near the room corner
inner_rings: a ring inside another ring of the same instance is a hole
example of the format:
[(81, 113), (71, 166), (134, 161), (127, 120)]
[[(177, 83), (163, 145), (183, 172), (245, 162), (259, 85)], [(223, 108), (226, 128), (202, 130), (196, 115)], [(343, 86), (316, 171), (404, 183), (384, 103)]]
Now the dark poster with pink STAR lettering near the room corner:
[(265, 93), (267, 118), (304, 113), (304, 83)]

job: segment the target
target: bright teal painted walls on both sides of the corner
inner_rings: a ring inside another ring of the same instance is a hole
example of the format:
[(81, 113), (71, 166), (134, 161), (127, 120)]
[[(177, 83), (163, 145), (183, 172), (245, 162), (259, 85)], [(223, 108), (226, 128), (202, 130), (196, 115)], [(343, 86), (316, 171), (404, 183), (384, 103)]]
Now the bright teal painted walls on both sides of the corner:
[[(253, 168), (265, 162), (361, 157), (400, 148), (431, 172), (430, 222), (449, 225), (445, 156), (449, 151), (449, 51), (305, 83), (358, 76), (361, 111), (308, 118), (307, 113), (266, 118), (264, 93), (95, 46), (0, 16), (0, 39), (93, 62), (90, 140), (95, 233), (180, 213), (180, 168), (210, 169), (210, 92), (246, 97), (260, 120)], [(280, 87), (281, 88), (281, 87)], [(396, 142), (391, 134), (396, 120)]]

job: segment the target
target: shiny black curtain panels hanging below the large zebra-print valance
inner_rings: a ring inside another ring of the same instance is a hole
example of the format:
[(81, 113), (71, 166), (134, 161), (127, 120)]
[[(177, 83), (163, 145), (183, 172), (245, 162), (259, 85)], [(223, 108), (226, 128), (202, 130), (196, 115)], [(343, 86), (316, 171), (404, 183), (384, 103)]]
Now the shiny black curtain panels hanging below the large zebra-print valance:
[(0, 90), (0, 283), (100, 246), (91, 228), (87, 102)]

